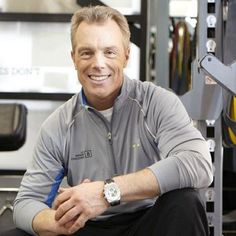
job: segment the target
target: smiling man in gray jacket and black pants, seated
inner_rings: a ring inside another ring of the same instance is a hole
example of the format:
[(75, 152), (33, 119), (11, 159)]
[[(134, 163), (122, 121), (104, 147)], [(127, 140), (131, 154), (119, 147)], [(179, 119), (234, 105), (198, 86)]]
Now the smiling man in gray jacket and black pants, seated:
[[(124, 16), (82, 8), (71, 40), (82, 91), (42, 125), (16, 226), (40, 236), (207, 235), (194, 189), (212, 181), (208, 146), (177, 96), (124, 78)], [(71, 187), (59, 188), (64, 176)]]

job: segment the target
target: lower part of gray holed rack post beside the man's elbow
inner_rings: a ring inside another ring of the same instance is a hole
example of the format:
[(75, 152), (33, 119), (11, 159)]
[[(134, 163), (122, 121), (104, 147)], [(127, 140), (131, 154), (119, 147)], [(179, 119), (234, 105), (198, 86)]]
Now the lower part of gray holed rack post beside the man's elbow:
[(206, 138), (214, 169), (214, 179), (210, 187), (201, 190), (205, 200), (210, 236), (222, 235), (222, 172), (223, 147), (221, 117), (217, 120), (199, 121), (199, 130)]

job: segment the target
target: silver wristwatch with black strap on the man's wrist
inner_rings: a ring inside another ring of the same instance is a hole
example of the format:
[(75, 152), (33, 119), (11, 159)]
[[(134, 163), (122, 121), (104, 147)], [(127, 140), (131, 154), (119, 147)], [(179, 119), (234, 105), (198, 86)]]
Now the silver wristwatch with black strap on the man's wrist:
[(111, 206), (120, 204), (120, 189), (113, 179), (104, 181), (104, 198)]

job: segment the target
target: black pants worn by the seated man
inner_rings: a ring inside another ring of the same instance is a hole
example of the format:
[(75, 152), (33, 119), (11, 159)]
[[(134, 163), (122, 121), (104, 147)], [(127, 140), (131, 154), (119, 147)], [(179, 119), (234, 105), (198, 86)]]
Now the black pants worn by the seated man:
[[(3, 236), (27, 236), (20, 230)], [(114, 216), (106, 221), (88, 221), (76, 236), (207, 236), (208, 222), (199, 193), (193, 189), (163, 194), (147, 210)]]

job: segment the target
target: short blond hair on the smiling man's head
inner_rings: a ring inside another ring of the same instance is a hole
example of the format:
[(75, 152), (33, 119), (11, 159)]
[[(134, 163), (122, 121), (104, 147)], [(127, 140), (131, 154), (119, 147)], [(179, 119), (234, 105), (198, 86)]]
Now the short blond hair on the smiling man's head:
[(85, 21), (86, 23), (103, 23), (109, 19), (114, 20), (120, 27), (123, 34), (124, 47), (125, 49), (128, 49), (130, 43), (130, 30), (127, 19), (119, 11), (107, 6), (83, 7), (74, 13), (71, 18), (72, 49), (75, 49), (75, 34), (82, 21)]

